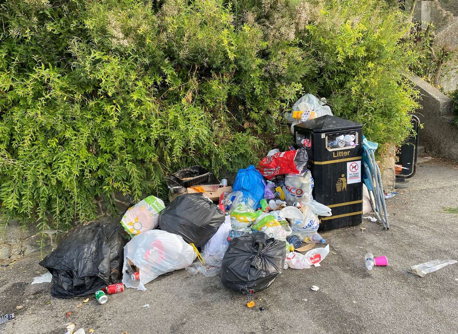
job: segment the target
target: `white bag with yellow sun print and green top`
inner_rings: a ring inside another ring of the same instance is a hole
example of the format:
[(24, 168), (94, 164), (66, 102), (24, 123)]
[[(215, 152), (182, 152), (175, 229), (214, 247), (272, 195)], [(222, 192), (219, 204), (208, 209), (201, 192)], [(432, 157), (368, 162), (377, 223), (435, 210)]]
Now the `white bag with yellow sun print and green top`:
[(164, 202), (154, 196), (148, 196), (127, 209), (122, 216), (121, 225), (132, 237), (158, 227), (159, 212), (165, 208)]

